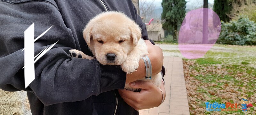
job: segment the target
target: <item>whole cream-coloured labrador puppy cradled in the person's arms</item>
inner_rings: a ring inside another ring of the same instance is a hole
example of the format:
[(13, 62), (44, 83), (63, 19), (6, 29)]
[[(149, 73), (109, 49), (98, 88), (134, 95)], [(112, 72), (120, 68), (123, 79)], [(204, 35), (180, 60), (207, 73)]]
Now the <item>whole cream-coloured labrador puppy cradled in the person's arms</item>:
[[(83, 31), (84, 39), (94, 57), (102, 65), (121, 65), (126, 73), (139, 67), (139, 60), (148, 55), (147, 45), (141, 39), (140, 27), (124, 13), (108, 11), (91, 19)], [(71, 57), (93, 59), (79, 50), (69, 50)], [(157, 87), (162, 82), (162, 74), (153, 75), (151, 81)], [(129, 84), (125, 89), (135, 91)]]

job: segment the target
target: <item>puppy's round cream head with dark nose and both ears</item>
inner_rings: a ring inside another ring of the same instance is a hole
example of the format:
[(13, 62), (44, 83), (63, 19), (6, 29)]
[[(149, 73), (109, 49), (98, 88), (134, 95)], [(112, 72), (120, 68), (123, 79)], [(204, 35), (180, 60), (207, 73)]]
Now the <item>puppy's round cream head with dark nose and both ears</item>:
[(91, 19), (83, 31), (84, 39), (103, 65), (121, 65), (141, 38), (140, 27), (117, 11), (104, 12)]

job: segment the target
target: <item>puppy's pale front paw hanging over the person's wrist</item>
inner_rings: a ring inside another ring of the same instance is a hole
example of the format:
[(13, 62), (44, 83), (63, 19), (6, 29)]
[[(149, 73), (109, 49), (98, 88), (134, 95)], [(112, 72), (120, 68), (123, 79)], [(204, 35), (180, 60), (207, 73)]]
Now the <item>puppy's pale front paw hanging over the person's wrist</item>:
[(132, 61), (132, 60), (126, 60), (124, 63), (121, 65), (122, 69), (126, 73), (132, 73), (134, 71), (137, 71), (137, 68), (139, 67), (139, 62), (137, 61)]

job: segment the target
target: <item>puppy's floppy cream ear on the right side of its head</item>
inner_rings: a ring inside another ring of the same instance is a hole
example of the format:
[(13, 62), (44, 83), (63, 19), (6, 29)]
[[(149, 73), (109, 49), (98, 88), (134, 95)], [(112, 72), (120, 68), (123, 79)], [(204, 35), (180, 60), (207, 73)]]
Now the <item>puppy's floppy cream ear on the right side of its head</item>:
[(131, 31), (131, 37), (132, 37), (133, 44), (134, 44), (134, 46), (136, 46), (141, 38), (141, 29), (136, 23), (133, 23), (129, 27), (129, 29)]

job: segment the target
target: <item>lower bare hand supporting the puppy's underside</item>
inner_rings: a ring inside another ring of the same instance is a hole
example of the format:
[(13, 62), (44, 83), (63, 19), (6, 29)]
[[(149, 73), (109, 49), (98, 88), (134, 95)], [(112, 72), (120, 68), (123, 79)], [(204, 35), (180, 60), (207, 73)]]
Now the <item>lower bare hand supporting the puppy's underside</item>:
[[(132, 88), (141, 88), (140, 92), (133, 92), (126, 89), (118, 89), (120, 96), (124, 101), (133, 107), (135, 110), (139, 111), (142, 109), (149, 109), (157, 107), (162, 102), (162, 92), (156, 87), (155, 84), (149, 81), (134, 81), (129, 84)], [(164, 93), (164, 99), (166, 92), (164, 89), (164, 84), (162, 83), (160, 88)]]

